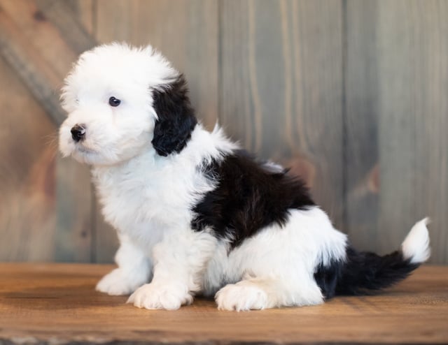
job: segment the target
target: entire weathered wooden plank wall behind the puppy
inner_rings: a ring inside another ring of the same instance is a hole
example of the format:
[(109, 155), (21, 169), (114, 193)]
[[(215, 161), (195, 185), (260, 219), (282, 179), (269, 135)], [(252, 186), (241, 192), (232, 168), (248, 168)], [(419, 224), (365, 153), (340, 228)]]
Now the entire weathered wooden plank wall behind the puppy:
[(291, 166), (356, 247), (391, 251), (429, 215), (431, 261), (448, 263), (447, 15), (435, 0), (0, 0), (0, 260), (112, 260), (88, 170), (59, 159), (55, 132), (71, 61), (116, 40), (161, 50), (202, 122)]

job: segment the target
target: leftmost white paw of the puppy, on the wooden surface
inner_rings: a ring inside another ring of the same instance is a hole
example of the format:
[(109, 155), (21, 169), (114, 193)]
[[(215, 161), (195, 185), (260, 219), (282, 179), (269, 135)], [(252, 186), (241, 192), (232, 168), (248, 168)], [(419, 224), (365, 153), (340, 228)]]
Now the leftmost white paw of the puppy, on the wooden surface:
[(142, 277), (116, 268), (99, 281), (96, 290), (109, 295), (129, 295), (145, 283)]

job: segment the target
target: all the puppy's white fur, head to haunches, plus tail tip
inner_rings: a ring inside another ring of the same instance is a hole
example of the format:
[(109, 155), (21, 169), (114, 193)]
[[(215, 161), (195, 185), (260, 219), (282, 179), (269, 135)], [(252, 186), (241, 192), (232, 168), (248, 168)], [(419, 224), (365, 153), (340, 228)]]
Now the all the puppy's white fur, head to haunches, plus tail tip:
[[(314, 270), (344, 260), (346, 235), (318, 207), (290, 210), (286, 226), (260, 229), (230, 254), (232, 239), (190, 228), (193, 206), (216, 188), (201, 164), (220, 161), (237, 145), (218, 126), (209, 133), (198, 125), (178, 154), (155, 152), (152, 91), (178, 75), (151, 47), (112, 44), (82, 54), (66, 78), (62, 99), (69, 115), (59, 131), (60, 150), (92, 166), (104, 218), (120, 238), (118, 268), (97, 290), (132, 293), (129, 302), (147, 309), (178, 309), (197, 293), (216, 293), (218, 308), (238, 311), (323, 302)], [(111, 96), (122, 103), (111, 107)], [(76, 124), (87, 128), (80, 142), (71, 138)], [(416, 244), (424, 240), (424, 225), (416, 227), (403, 252), (420, 262), (428, 250)]]

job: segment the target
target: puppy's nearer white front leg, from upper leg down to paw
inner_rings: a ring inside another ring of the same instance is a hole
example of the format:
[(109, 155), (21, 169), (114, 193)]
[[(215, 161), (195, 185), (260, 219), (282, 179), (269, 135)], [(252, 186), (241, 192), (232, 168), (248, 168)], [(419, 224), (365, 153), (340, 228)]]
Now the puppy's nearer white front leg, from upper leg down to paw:
[(127, 302), (170, 310), (192, 303), (193, 295), (202, 289), (202, 274), (216, 243), (213, 235), (190, 229), (165, 236), (153, 249), (153, 281), (137, 289)]

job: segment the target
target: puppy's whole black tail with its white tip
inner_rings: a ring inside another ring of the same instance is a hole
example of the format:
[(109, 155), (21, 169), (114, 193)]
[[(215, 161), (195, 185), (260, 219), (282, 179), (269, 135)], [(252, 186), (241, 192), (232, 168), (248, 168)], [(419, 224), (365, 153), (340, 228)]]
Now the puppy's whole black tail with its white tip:
[[(327, 284), (319, 284), (324, 287), (322, 292), (325, 298), (331, 298), (334, 294), (360, 295), (405, 279), (430, 256), (427, 223), (427, 218), (416, 223), (402, 242), (401, 249), (385, 256), (347, 247), (346, 260), (334, 263), (332, 267), (332, 279), (328, 279), (327, 275)], [(331, 287), (328, 286), (330, 282)]]

